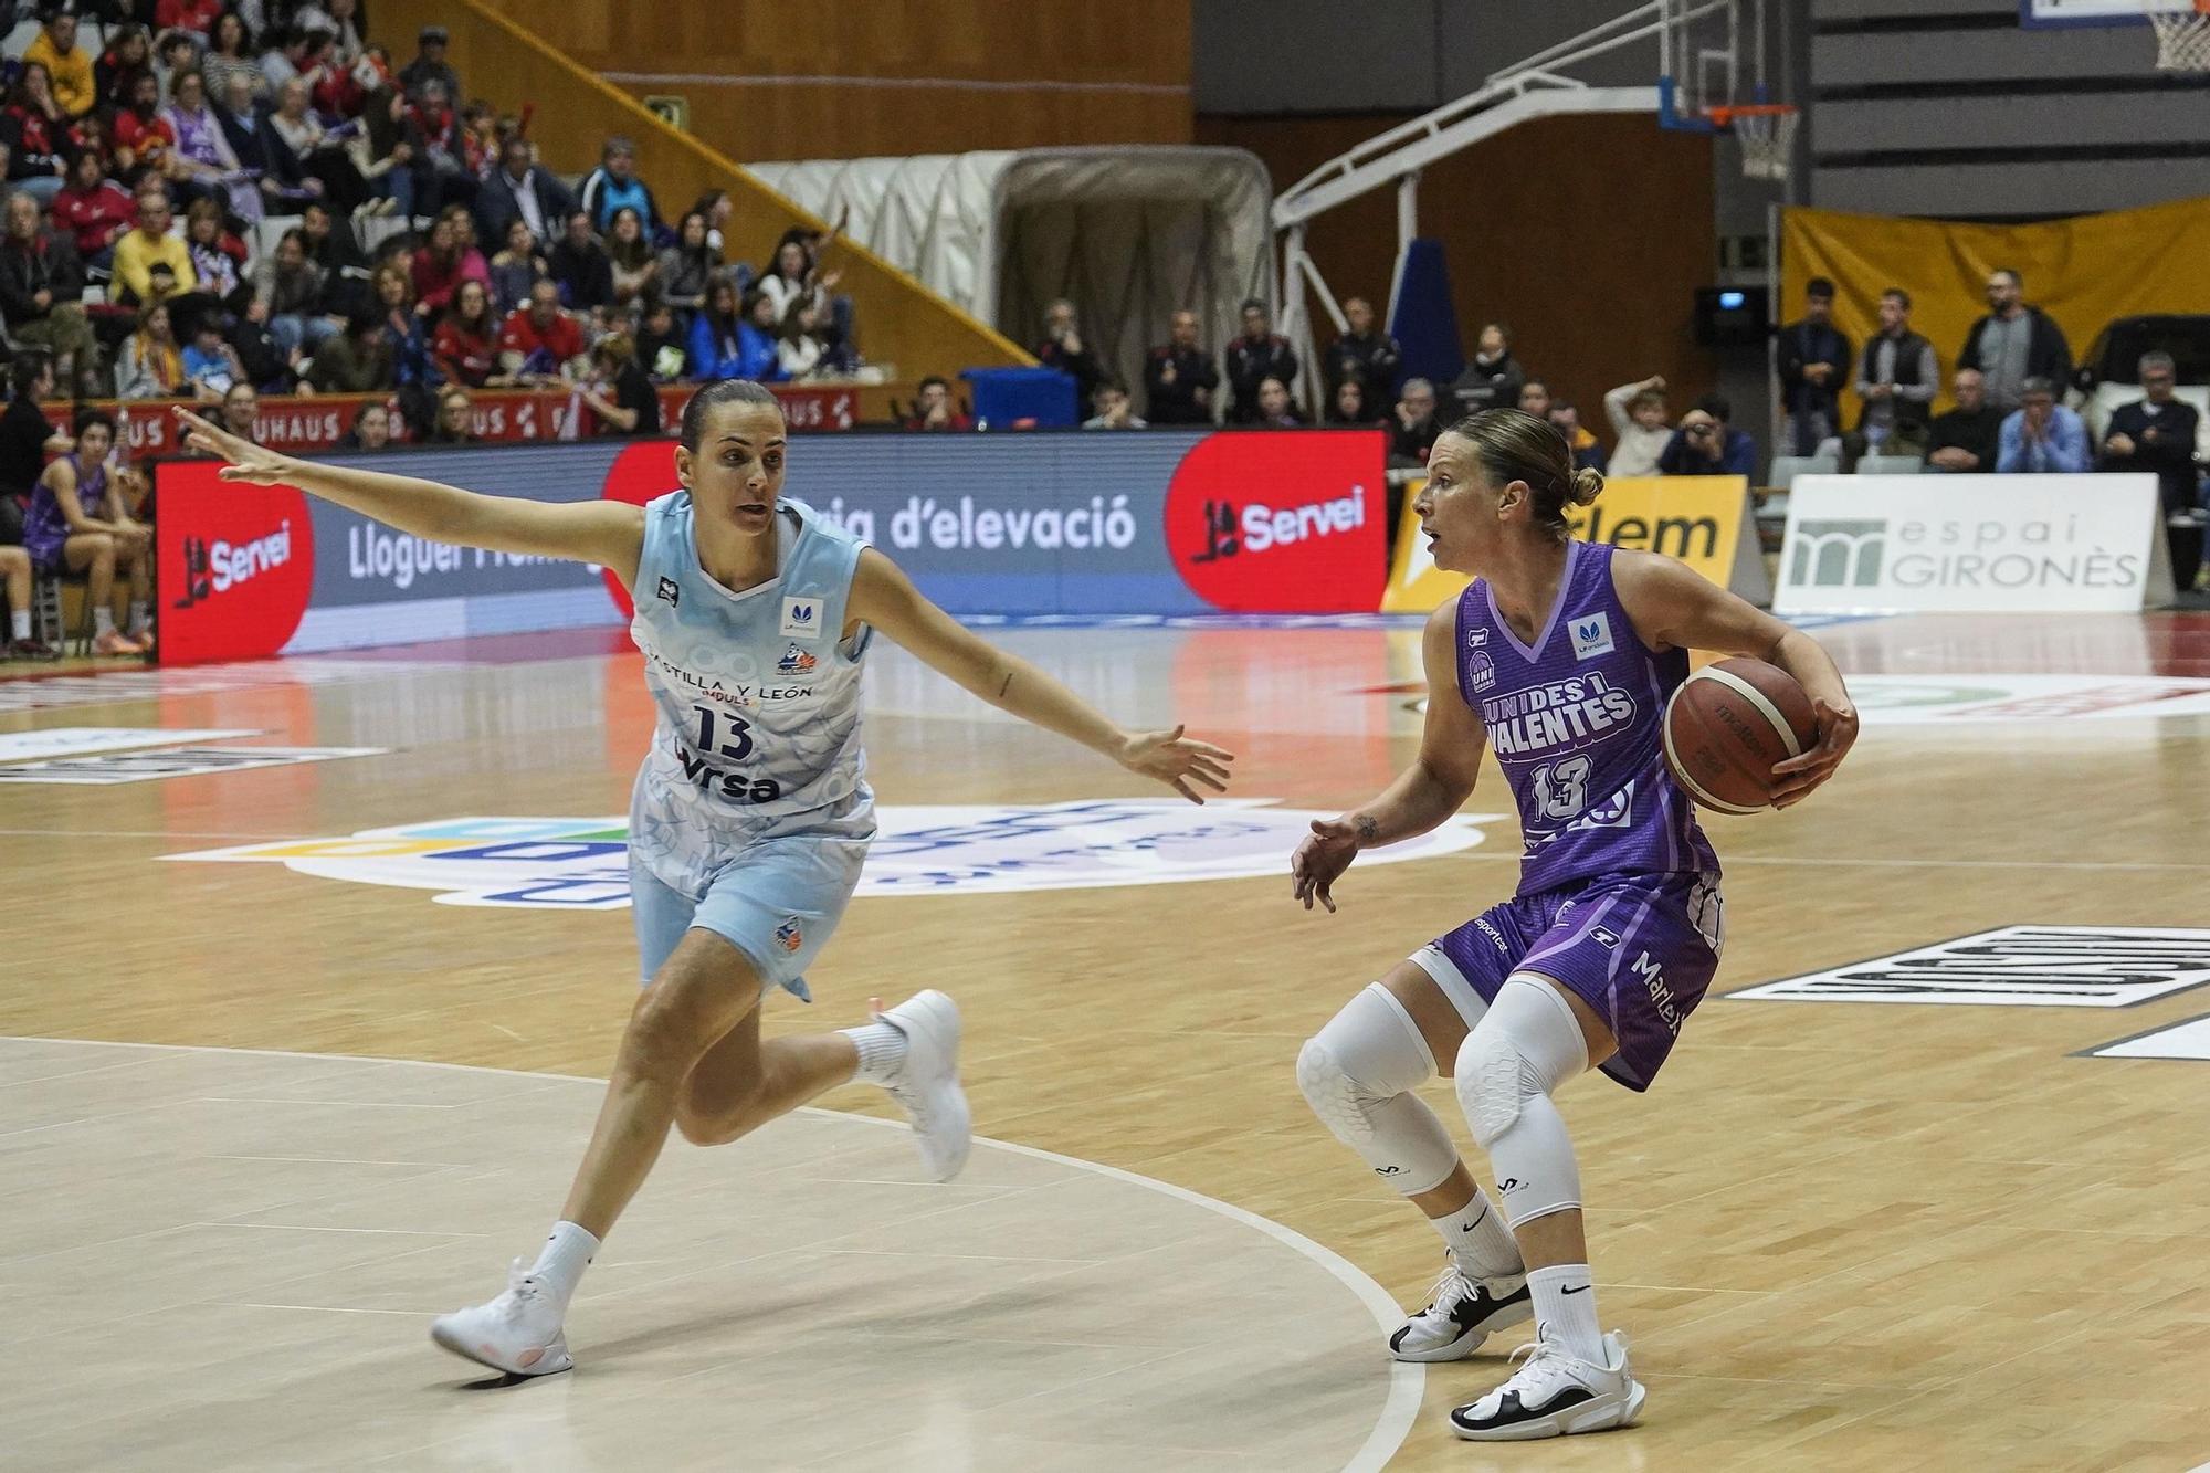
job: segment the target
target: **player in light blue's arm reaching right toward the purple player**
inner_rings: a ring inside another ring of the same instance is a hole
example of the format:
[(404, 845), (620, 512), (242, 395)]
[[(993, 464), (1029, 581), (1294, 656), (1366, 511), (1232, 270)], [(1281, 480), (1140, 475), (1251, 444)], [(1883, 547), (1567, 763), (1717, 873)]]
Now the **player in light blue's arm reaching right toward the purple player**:
[(873, 624), (922, 664), (990, 706), (1078, 741), (1129, 772), (1158, 779), (1191, 803), (1202, 803), (1196, 785), (1227, 792), (1231, 752), (1171, 732), (1123, 732), (1078, 694), (1017, 655), (979, 639), (948, 613), (922, 597), (895, 562), (866, 549), (851, 582), (849, 613)]

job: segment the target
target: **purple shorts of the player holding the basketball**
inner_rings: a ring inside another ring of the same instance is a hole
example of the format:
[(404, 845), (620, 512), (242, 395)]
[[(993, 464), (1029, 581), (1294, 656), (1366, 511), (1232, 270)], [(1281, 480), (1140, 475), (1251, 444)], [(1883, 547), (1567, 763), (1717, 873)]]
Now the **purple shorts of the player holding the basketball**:
[(1611, 1024), (1620, 1051), (1604, 1073), (1646, 1090), (1704, 1000), (1724, 944), (1719, 876), (1611, 874), (1514, 896), (1428, 942), (1412, 962), (1467, 1020), (1514, 971), (1543, 973)]

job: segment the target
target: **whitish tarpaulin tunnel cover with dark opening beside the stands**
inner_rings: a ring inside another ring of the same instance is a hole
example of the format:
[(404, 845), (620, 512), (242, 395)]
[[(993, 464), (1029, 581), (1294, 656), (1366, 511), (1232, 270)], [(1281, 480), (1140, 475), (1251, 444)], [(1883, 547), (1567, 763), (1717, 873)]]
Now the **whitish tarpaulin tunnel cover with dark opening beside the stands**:
[(1043, 338), (1043, 307), (1072, 299), (1083, 336), (1138, 403), (1145, 352), (1167, 341), (1174, 312), (1196, 312), (1218, 354), (1238, 334), (1246, 296), (1275, 301), (1273, 186), (1242, 148), (1030, 148), (749, 168), (820, 219), (846, 217), (855, 241), (1023, 347)]

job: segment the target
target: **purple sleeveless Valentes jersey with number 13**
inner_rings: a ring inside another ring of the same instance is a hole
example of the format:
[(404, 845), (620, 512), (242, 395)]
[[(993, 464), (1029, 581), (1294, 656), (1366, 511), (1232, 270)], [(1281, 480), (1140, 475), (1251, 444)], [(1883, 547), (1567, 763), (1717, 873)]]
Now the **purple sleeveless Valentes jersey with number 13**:
[(1717, 874), (1688, 796), (1664, 767), (1664, 703), (1688, 652), (1653, 655), (1611, 586), (1611, 546), (1569, 542), (1534, 646), (1487, 579), (1459, 595), (1459, 690), (1487, 728), (1520, 809), (1520, 896), (1616, 874)]

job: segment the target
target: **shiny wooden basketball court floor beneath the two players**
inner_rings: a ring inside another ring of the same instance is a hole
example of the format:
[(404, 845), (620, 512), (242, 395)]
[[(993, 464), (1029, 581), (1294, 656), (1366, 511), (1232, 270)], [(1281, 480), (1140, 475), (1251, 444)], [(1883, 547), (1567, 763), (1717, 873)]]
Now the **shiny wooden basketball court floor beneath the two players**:
[[(1414, 628), (999, 635), (1125, 721), (1235, 748), (1235, 796), (1277, 809), (1335, 812), (1412, 754)], [(2203, 924), (2210, 619), (1821, 639), (1865, 706), (1854, 759), (1799, 809), (1711, 823), (1728, 949), (1658, 1088), (1560, 1097), (1602, 1318), (1651, 1398), (1543, 1449), (1443, 1424), (1512, 1343), (1386, 1360), (1439, 1243), (1293, 1079), (1346, 995), (1509, 891), (1494, 767), (1452, 852), (1361, 863), (1308, 916), (1280, 838), (1302, 818), (1112, 805), (1154, 794), (884, 650), (891, 894), (767, 1026), (950, 991), (1003, 1146), (919, 1183), (866, 1088), (676, 1143), (583, 1281), (579, 1369), (475, 1391), (429, 1316), (544, 1232), (634, 993), (603, 909), (650, 730), (623, 637), (0, 683), (9, 767), (141, 779), (0, 781), (0, 1462), (2203, 1462), (2210, 1066), (2093, 1051), (2210, 1011), (2210, 936), (2126, 936)], [(99, 750), (117, 728), (325, 752), (164, 776)], [(27, 756), (40, 732), (77, 734)], [(398, 834), (340, 843), (369, 829)], [(2029, 931), (1947, 991), (1885, 967), (1797, 989), (1850, 1002), (1724, 995), (2004, 927)]]

